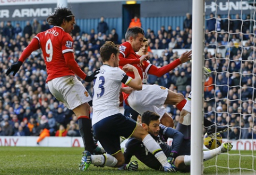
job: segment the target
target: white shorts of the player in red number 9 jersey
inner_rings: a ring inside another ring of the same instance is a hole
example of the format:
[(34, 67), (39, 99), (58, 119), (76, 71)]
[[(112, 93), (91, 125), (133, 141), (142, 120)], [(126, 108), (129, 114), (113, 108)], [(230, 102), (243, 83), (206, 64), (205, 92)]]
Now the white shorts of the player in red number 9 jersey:
[(91, 100), (82, 82), (75, 76), (64, 76), (48, 81), (50, 93), (69, 109), (74, 109)]

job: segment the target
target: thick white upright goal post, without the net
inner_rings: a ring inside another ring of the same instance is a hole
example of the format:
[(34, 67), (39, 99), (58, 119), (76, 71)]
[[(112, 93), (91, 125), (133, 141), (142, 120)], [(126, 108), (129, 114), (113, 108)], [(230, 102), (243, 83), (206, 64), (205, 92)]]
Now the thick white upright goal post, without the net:
[(193, 0), (192, 29), (191, 174), (203, 174), (204, 0)]

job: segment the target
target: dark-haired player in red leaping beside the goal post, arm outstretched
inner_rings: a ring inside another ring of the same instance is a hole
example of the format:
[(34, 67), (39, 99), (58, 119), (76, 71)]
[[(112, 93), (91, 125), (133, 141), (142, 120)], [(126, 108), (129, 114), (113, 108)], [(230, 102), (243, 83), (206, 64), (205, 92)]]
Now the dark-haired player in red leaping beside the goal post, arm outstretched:
[[(165, 73), (173, 70), (181, 63), (191, 60), (192, 51), (184, 52), (179, 59), (176, 59), (169, 65), (158, 68), (151, 65), (145, 59), (147, 55), (138, 56), (135, 52), (138, 52), (143, 47), (144, 31), (140, 27), (131, 27), (127, 29), (125, 34), (126, 42), (120, 45), (120, 67), (127, 63), (135, 66), (141, 78), (143, 78), (143, 72), (158, 77), (163, 76)], [(127, 72), (127, 75), (134, 77), (133, 72)], [(160, 121), (162, 124), (173, 127), (173, 119), (165, 111), (164, 104), (176, 105), (179, 110), (182, 110), (186, 103), (186, 99), (180, 93), (174, 93), (171, 90), (163, 86), (158, 85), (143, 85), (141, 91), (136, 91), (130, 87), (122, 88), (123, 97), (125, 103), (130, 105), (139, 114), (144, 113), (147, 110), (151, 110), (160, 115)]]

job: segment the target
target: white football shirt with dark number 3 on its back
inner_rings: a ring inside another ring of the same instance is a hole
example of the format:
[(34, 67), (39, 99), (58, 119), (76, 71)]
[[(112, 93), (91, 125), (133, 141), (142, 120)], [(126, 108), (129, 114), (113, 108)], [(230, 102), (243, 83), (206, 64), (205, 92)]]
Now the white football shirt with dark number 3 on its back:
[(119, 95), (122, 82), (127, 85), (132, 80), (118, 67), (103, 65), (100, 67), (93, 85), (92, 125), (101, 119), (120, 113)]

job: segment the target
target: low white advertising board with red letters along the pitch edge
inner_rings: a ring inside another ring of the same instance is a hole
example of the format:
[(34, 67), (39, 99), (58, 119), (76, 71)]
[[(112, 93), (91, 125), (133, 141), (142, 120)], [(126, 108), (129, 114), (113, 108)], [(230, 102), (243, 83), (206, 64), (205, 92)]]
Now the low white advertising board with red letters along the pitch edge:
[[(0, 146), (46, 146), (46, 147), (81, 147), (83, 148), (82, 137), (45, 137), (44, 140), (37, 144), (37, 136), (0, 136)], [(121, 148), (127, 140), (121, 143)], [(223, 139), (223, 142), (226, 142)], [(231, 141), (234, 145), (232, 150), (247, 150), (256, 151), (256, 140), (252, 139), (241, 139), (236, 141)], [(172, 139), (168, 139), (167, 143), (172, 144)], [(98, 142), (98, 145), (100, 143)], [(204, 149), (207, 150), (206, 147)]]

